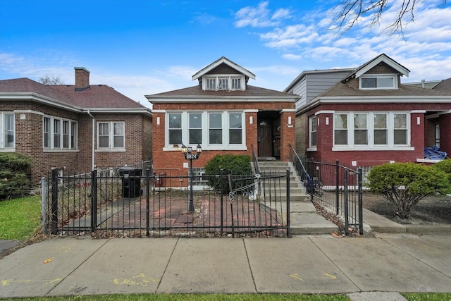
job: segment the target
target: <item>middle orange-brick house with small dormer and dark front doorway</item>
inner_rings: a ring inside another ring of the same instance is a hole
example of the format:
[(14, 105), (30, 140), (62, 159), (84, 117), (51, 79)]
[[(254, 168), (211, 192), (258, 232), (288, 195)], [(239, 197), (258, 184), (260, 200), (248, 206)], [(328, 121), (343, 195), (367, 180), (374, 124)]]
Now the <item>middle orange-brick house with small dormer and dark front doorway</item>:
[(289, 161), (297, 95), (247, 85), (255, 75), (221, 57), (192, 76), (199, 85), (147, 95), (153, 104), (156, 172), (186, 175), (182, 145), (202, 146), (194, 173), (216, 154)]

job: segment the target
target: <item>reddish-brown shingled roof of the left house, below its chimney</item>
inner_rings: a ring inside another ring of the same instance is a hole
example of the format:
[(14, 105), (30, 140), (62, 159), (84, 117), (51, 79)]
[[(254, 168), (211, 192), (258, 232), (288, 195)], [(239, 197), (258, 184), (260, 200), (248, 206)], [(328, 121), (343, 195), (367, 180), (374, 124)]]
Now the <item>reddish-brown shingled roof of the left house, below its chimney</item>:
[(107, 85), (75, 91), (75, 85), (42, 85), (29, 78), (0, 80), (0, 99), (32, 99), (74, 111), (149, 111)]

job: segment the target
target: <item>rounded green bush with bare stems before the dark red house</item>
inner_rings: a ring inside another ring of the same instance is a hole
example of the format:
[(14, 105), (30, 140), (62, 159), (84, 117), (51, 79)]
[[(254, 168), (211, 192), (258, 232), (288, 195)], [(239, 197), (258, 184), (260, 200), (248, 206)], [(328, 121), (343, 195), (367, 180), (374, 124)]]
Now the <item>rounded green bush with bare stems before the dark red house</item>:
[(410, 211), (421, 199), (430, 195), (446, 195), (451, 191), (445, 172), (432, 166), (394, 163), (374, 166), (366, 186), (376, 195), (383, 195), (397, 207), (396, 214), (409, 218)]

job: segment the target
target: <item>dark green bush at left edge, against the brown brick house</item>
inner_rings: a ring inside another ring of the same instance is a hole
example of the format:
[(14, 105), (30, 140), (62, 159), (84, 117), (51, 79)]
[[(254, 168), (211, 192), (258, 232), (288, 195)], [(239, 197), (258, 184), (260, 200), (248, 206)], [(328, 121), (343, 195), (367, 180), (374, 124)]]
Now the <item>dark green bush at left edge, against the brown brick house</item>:
[(0, 153), (0, 199), (20, 195), (30, 185), (30, 156)]

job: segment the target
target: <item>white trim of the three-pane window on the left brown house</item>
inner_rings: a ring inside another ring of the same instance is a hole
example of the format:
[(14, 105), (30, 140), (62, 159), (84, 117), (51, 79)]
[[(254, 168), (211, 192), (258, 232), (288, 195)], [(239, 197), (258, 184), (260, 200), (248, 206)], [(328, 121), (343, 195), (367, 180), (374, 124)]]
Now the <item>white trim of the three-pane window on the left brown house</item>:
[[(49, 147), (44, 147), (44, 118), (49, 118)], [(55, 147), (54, 139), (55, 139), (55, 130), (54, 121), (59, 121), (59, 147)], [(69, 123), (68, 128), (68, 147), (63, 148), (63, 123), (67, 121)], [(75, 147), (71, 147), (72, 141), (72, 124), (77, 124), (77, 133), (75, 133)], [(54, 117), (49, 115), (44, 115), (42, 117), (42, 149), (44, 152), (78, 152), (78, 121), (74, 121), (67, 118)]]

